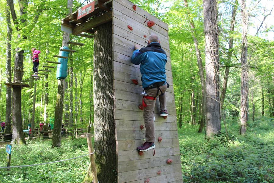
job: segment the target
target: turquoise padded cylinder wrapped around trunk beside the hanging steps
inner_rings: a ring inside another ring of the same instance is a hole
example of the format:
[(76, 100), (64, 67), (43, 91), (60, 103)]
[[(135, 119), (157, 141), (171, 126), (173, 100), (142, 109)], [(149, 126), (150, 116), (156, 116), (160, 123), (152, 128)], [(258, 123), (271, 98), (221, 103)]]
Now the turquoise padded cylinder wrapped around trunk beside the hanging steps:
[[(68, 49), (68, 47), (61, 47), (60, 49)], [(59, 51), (59, 56), (68, 57), (69, 52)], [(57, 71), (56, 71), (56, 79), (65, 79), (67, 77), (68, 70), (68, 59), (67, 58), (58, 58)]]

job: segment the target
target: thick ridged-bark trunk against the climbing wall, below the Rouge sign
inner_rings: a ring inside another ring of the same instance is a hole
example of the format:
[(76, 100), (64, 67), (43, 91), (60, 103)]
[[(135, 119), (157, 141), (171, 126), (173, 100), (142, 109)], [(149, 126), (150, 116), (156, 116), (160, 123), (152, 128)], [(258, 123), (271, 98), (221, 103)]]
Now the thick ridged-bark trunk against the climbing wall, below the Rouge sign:
[(113, 112), (112, 23), (102, 24), (96, 27), (94, 32), (94, 151), (98, 166), (98, 180), (100, 182), (117, 182)]

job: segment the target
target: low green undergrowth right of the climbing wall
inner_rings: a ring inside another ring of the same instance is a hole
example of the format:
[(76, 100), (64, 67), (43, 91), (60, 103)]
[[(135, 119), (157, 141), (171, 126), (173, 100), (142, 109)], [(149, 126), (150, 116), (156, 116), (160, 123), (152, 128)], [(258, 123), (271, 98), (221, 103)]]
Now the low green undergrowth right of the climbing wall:
[[(237, 122), (228, 124), (230, 136), (207, 141), (196, 128), (179, 130), (184, 182), (272, 182), (274, 131), (271, 119), (256, 120), (246, 136), (238, 135)], [(195, 143), (194, 143), (195, 142)]]

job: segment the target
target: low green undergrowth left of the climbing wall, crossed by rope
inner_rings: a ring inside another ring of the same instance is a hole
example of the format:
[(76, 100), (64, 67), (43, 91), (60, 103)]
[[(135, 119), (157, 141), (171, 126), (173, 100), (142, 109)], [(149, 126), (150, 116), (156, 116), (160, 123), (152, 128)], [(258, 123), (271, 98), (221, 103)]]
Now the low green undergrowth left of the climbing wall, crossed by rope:
[[(51, 148), (51, 140), (28, 141), (12, 145), (11, 166), (45, 163), (88, 154), (86, 138), (62, 139), (60, 148)], [(90, 163), (89, 156), (47, 165), (0, 169), (0, 182), (82, 182)], [(7, 166), (5, 147), (0, 148), (0, 166)]]

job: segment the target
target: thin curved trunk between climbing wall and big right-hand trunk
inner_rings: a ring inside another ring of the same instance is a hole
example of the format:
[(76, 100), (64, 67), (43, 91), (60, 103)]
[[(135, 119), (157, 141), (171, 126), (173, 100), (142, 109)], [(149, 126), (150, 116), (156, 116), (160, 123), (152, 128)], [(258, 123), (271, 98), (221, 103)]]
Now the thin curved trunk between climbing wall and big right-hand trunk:
[[(188, 2), (187, 0), (184, 0), (184, 6), (188, 7)], [(199, 68), (199, 75), (200, 75), (200, 81), (201, 81), (201, 86), (202, 86), (202, 123), (200, 123), (200, 127), (198, 132), (201, 129), (203, 129), (204, 121), (206, 119), (206, 80), (205, 80), (205, 73), (204, 73), (204, 68), (203, 68), (203, 63), (202, 63), (202, 56), (201, 56), (201, 51), (199, 49), (199, 42), (196, 38), (196, 30), (195, 30), (195, 25), (193, 20), (190, 20), (190, 27), (193, 29), (193, 32), (191, 32), (191, 36), (193, 38), (194, 42), (194, 47), (195, 47), (195, 52), (196, 52), (196, 58), (197, 58), (197, 64)]]

